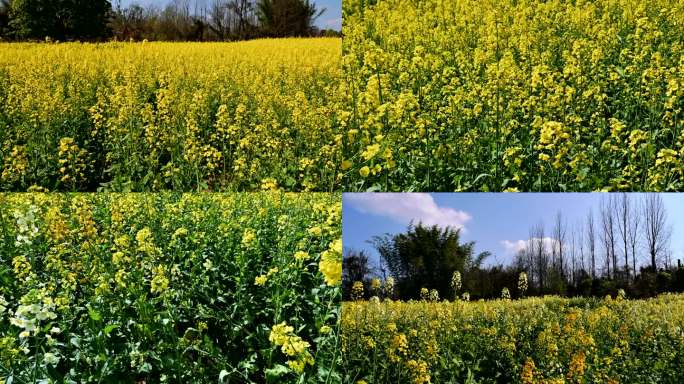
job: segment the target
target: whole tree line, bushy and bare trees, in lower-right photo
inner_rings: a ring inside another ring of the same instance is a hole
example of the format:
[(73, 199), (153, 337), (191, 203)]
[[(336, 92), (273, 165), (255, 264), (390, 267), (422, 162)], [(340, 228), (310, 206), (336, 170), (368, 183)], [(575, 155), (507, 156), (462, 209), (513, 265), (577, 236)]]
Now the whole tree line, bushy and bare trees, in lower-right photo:
[[(394, 299), (420, 299), (424, 288), (455, 299), (458, 276), (460, 293), (471, 298), (500, 297), (504, 289), (514, 296), (682, 292), (684, 267), (673, 260), (670, 238), (671, 225), (658, 194), (606, 194), (598, 210), (572, 225), (559, 211), (551, 228), (541, 222), (530, 228), (508, 265), (484, 266), (490, 253), (475, 254), (475, 243), (461, 242), (459, 230), (411, 224), (405, 233), (369, 240), (380, 257), (378, 267), (365, 252), (345, 249), (343, 289), (346, 300), (354, 296), (354, 288), (365, 298), (391, 292)], [(526, 292), (519, 289), (521, 274)], [(388, 279), (391, 289), (378, 289)]]

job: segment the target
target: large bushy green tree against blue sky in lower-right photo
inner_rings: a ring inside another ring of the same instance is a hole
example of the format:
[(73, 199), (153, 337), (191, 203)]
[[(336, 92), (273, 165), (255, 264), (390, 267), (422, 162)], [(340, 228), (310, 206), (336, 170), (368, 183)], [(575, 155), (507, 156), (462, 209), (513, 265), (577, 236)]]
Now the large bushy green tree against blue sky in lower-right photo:
[(489, 256), (474, 256), (475, 242), (461, 243), (459, 229), (409, 225), (406, 233), (375, 236), (375, 246), (396, 280), (399, 296), (412, 299), (421, 288), (436, 289), (440, 297), (451, 297), (451, 277), (479, 268)]

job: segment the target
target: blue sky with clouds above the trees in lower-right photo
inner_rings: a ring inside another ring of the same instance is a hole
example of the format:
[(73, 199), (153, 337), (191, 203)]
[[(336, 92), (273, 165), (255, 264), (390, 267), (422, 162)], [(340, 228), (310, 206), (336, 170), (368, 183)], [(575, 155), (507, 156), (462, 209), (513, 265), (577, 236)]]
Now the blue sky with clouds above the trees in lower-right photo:
[[(487, 264), (507, 264), (519, 241), (529, 238), (530, 227), (543, 222), (550, 236), (556, 213), (573, 225), (585, 221), (593, 209), (598, 224), (601, 193), (437, 193), (365, 194), (345, 193), (342, 198), (342, 232), (345, 247), (378, 256), (366, 241), (374, 235), (399, 233), (414, 219), (430, 224), (462, 227), (465, 241), (476, 241), (476, 252), (490, 251)], [(640, 194), (630, 194), (638, 200)], [(672, 225), (673, 263), (684, 262), (684, 194), (663, 194)], [(645, 260), (644, 260), (645, 261)], [(637, 260), (637, 263), (639, 261)]]

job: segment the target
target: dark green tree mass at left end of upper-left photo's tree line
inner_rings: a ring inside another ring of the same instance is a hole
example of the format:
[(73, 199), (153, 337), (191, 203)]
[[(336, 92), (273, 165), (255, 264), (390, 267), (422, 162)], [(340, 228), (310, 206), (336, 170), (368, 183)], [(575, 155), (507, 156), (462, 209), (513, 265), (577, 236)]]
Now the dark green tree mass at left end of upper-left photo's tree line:
[(13, 0), (10, 29), (17, 39), (93, 40), (109, 36), (108, 0)]

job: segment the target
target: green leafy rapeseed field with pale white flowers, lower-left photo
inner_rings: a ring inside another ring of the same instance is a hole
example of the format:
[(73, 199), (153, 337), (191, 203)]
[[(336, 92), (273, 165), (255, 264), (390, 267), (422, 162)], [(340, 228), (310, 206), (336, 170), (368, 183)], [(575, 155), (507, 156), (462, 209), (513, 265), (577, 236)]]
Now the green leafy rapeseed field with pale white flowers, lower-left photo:
[(0, 194), (0, 383), (340, 382), (330, 194)]

